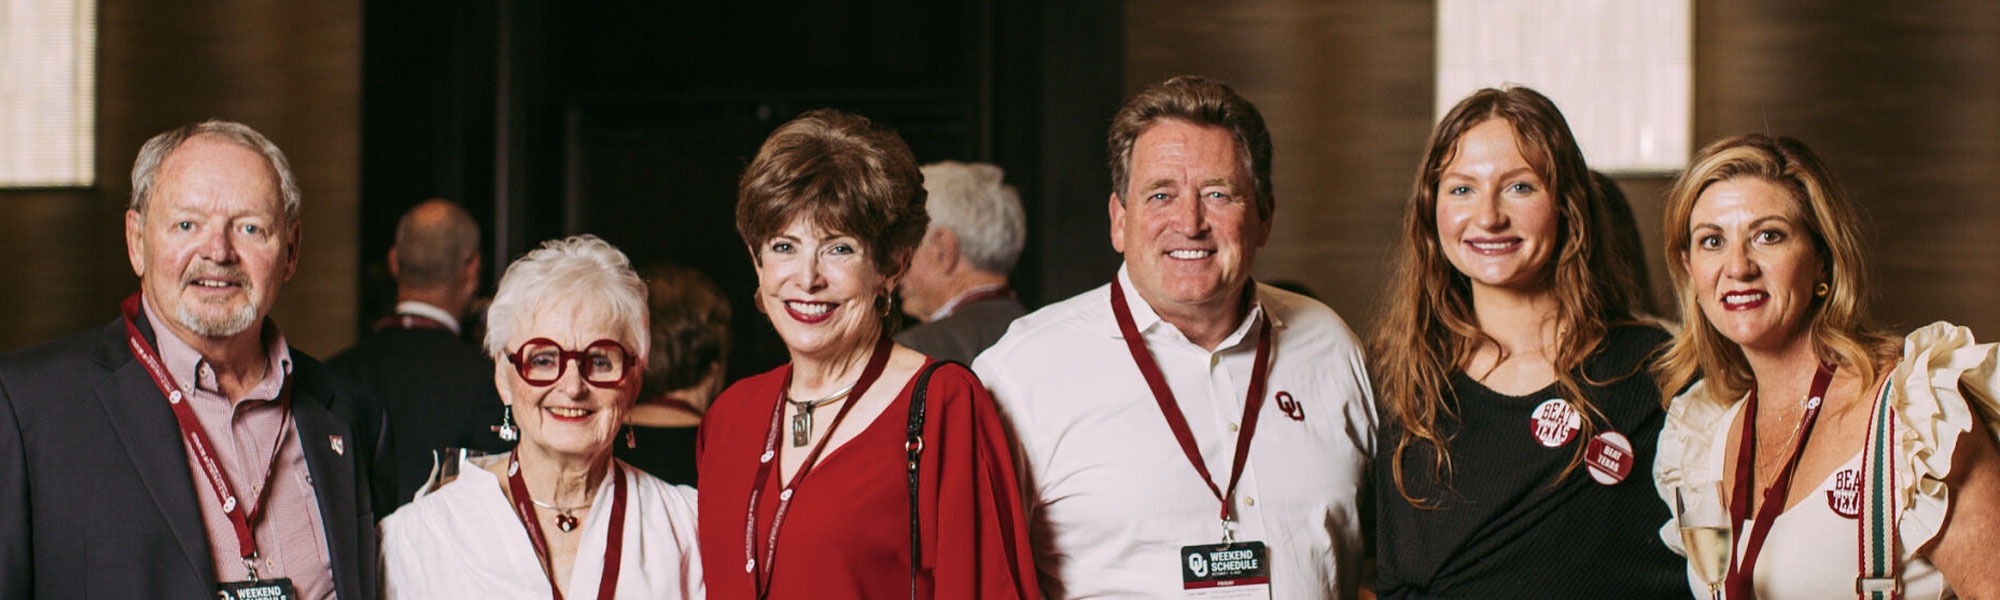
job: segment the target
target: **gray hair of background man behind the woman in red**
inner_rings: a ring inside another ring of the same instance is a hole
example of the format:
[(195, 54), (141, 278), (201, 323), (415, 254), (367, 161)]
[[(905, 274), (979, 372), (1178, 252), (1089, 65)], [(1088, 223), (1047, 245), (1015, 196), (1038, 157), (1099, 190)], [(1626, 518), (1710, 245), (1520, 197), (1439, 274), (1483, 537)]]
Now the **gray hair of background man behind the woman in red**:
[(958, 236), (958, 256), (974, 268), (1008, 274), (1020, 260), (1028, 216), (1020, 192), (1004, 182), (998, 166), (984, 162), (934, 162), (924, 166), (930, 192), (930, 226)]

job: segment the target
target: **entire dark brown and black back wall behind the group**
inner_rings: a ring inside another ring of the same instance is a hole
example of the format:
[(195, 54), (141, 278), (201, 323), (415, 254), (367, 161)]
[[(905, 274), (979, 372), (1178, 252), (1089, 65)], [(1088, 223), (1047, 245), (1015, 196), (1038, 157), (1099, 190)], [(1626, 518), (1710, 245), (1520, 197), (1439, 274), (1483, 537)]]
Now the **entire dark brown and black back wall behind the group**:
[[(1058, 300), (1118, 264), (1104, 216), (1110, 112), (1180, 72), (1234, 82), (1276, 134), (1278, 226), (1258, 276), (1304, 282), (1366, 330), (1430, 128), (1430, 2), (572, 4), (102, 2), (100, 182), (0, 192), (0, 274), (14, 282), (0, 290), (0, 348), (112, 316), (136, 288), (120, 230), (132, 154), (206, 116), (252, 122), (300, 168), (306, 256), (278, 318), (316, 354), (386, 310), (394, 220), (430, 196), (498, 232), (494, 272), (588, 226), (640, 260), (746, 276), (714, 208), (754, 140), (816, 104), (904, 128), (920, 160), (1006, 166), (1030, 206), (1018, 286)], [(1698, 0), (1694, 28), (1696, 140), (1806, 140), (1868, 210), (1884, 320), (2000, 336), (2000, 252), (1988, 248), (2000, 236), (2000, 4)], [(702, 182), (658, 192), (668, 172)], [(1666, 180), (1622, 184), (1660, 288)], [(704, 242), (682, 244), (694, 236), (682, 228)], [(738, 314), (740, 330), (768, 332)]]

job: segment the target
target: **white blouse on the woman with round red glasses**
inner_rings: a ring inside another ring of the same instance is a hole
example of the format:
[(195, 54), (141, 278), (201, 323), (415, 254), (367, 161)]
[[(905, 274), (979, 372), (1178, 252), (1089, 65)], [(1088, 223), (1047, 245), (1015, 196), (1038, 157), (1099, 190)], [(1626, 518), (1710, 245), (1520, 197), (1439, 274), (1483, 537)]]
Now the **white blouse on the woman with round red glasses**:
[[(550, 598), (528, 530), (500, 478), (480, 468), (488, 460), (506, 456), (460, 462), (456, 480), (382, 520), (382, 598)], [(618, 598), (704, 598), (694, 488), (612, 464), (626, 474)], [(610, 494), (604, 478), (598, 498)], [(564, 598), (598, 598), (610, 510), (612, 502), (592, 502), (584, 516)]]

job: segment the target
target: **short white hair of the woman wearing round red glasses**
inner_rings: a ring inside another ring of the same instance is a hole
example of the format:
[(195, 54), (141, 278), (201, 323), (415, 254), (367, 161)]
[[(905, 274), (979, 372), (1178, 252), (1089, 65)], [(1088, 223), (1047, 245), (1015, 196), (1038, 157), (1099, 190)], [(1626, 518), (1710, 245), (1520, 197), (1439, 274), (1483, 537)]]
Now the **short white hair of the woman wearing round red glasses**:
[(584, 316), (608, 322), (622, 332), (616, 342), (638, 356), (644, 368), (652, 350), (646, 282), (610, 242), (592, 234), (568, 236), (542, 242), (542, 248), (514, 260), (500, 276), (494, 304), (486, 308), (486, 354), (504, 360), (506, 344), (526, 342), (524, 336), (530, 336), (522, 328), (534, 314), (554, 308), (578, 308)]

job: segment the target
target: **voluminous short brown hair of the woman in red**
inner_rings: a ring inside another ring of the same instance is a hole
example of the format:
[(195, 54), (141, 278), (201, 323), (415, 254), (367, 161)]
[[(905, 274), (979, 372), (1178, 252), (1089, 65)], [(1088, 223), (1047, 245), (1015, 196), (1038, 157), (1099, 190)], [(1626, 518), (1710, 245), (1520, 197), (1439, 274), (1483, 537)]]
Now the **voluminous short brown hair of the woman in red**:
[(736, 186), (736, 232), (750, 246), (798, 218), (860, 240), (884, 276), (924, 240), (924, 174), (910, 144), (858, 114), (816, 108), (778, 126)]

